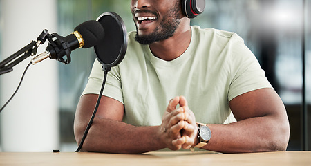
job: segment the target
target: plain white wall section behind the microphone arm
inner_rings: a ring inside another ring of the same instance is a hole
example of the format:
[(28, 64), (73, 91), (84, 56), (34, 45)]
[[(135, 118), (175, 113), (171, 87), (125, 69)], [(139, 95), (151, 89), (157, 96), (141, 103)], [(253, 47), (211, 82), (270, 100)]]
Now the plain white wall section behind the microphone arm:
[[(57, 32), (56, 0), (1, 0), (0, 59), (36, 40), (44, 29)], [(43, 52), (48, 42), (40, 46)], [(1, 107), (17, 88), (30, 57), (0, 75)], [(0, 113), (2, 151), (53, 151), (59, 148), (57, 63), (30, 66), (15, 98)]]

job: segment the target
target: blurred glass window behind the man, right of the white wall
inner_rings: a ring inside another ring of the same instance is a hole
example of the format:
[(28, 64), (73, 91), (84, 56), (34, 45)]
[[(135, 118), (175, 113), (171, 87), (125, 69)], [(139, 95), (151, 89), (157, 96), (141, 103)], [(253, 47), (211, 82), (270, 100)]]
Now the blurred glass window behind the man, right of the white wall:
[[(1, 1), (0, 1), (1, 2)], [(59, 2), (59, 34), (68, 34), (78, 24), (96, 19), (102, 12), (117, 12), (128, 31), (135, 30), (130, 1), (66, 0)], [(289, 150), (302, 149), (301, 109), (303, 109), (302, 24), (303, 8), (310, 16), (310, 0), (208, 0), (202, 15), (191, 21), (202, 28), (218, 28), (238, 33), (256, 55), (274, 89), (288, 111), (291, 126)], [(306, 19), (309, 20), (309, 19)], [(310, 21), (306, 22), (306, 100), (310, 120), (311, 48)], [(87, 82), (95, 54), (91, 48), (75, 51), (70, 65), (59, 64), (61, 126), (63, 143), (75, 142), (75, 107)], [(310, 126), (310, 122), (308, 123)], [(68, 132), (71, 131), (71, 132)], [(309, 140), (311, 135), (309, 128)], [(309, 141), (310, 142), (310, 141)], [(310, 149), (310, 146), (309, 146)]]

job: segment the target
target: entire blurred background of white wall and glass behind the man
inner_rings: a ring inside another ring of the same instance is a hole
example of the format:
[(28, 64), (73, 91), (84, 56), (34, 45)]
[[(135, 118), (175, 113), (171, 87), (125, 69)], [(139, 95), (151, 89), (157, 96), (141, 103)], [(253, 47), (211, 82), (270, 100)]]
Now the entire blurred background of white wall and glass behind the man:
[[(311, 0), (206, 2), (205, 12), (191, 24), (232, 31), (245, 39), (288, 111), (288, 151), (310, 150)], [(103, 12), (117, 12), (127, 30), (135, 30), (129, 5), (130, 0), (0, 0), (0, 61), (36, 40), (44, 29), (66, 36)], [(17, 95), (0, 113), (0, 151), (77, 149), (75, 109), (95, 53), (79, 49), (71, 57), (68, 65), (46, 59), (30, 66)], [(0, 107), (14, 93), (29, 62), (0, 75)]]

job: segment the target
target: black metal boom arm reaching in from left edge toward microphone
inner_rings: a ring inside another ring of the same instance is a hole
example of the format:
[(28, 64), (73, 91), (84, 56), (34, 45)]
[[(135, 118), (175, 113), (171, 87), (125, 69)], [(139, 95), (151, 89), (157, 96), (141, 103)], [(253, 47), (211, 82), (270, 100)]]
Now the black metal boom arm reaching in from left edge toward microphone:
[(30, 42), (30, 44), (21, 48), (21, 50), (18, 50), (16, 53), (0, 62), (0, 75), (13, 71), (14, 66), (22, 62), (30, 55), (32, 56), (36, 55), (37, 48), (39, 47), (40, 44), (44, 44), (47, 35), (48, 30), (43, 30), (42, 33), (37, 38), (37, 42), (35, 41)]

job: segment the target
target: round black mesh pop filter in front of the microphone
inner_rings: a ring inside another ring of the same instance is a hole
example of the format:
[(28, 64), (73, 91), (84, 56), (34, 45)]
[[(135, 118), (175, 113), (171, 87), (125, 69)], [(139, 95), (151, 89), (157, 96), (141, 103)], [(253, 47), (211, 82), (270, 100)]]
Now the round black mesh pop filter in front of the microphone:
[(115, 12), (104, 12), (97, 21), (102, 24), (105, 32), (104, 39), (94, 46), (97, 60), (104, 68), (117, 66), (124, 58), (127, 48), (124, 22)]

